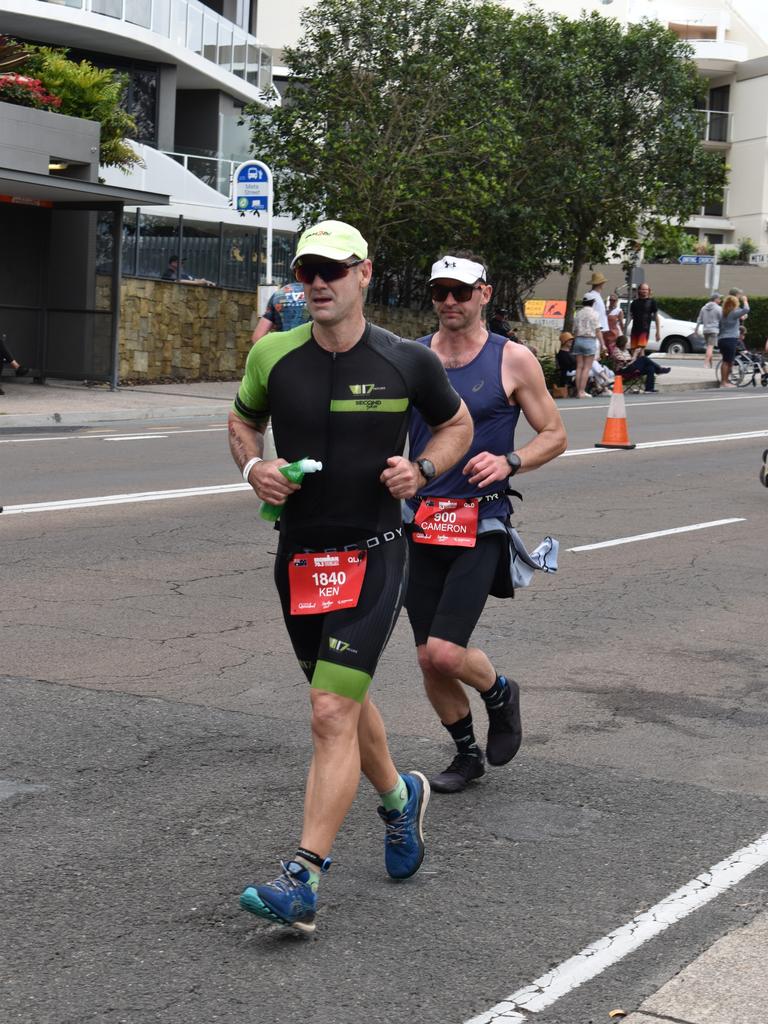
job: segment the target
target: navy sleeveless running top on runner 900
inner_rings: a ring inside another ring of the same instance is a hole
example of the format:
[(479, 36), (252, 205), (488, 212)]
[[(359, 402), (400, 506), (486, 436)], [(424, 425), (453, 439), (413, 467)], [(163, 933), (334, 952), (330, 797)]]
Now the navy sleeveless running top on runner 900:
[[(432, 335), (418, 338), (417, 341), (431, 348)], [(419, 490), (419, 496), (477, 498), (482, 495), (501, 495), (506, 487), (507, 481), (500, 480), (487, 487), (478, 488), (469, 482), (469, 477), (464, 476), (462, 470), (478, 452), (506, 455), (507, 452), (514, 451), (515, 426), (520, 415), (520, 407), (510, 404), (502, 384), (502, 354), (507, 344), (509, 344), (507, 338), (499, 334), (488, 334), (487, 341), (471, 362), (456, 370), (446, 370), (449, 380), (472, 414), (475, 425), (474, 437), (464, 458), (453, 469), (430, 480)], [(412, 459), (421, 455), (431, 436), (432, 433), (420, 414), (416, 409), (412, 409), (409, 426)], [(416, 511), (419, 507), (418, 498), (412, 498), (408, 504)], [(481, 519), (505, 518), (508, 515), (509, 503), (504, 497), (480, 503)]]

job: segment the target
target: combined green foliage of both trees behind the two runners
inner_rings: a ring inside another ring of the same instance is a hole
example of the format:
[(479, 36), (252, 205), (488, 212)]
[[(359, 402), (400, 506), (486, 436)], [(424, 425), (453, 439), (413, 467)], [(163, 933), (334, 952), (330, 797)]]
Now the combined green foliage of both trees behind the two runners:
[(401, 298), (461, 246), (486, 253), (505, 304), (557, 266), (572, 305), (585, 265), (723, 187), (690, 50), (656, 23), (318, 0), (303, 27), (283, 104), (248, 111), (254, 152), (285, 212), (354, 223)]

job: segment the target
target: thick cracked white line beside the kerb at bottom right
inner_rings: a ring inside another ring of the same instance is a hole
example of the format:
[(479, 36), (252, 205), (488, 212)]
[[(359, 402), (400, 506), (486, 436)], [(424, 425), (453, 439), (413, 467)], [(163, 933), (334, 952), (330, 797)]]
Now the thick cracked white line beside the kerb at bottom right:
[(552, 1006), (586, 981), (596, 978), (670, 925), (727, 892), (766, 863), (768, 833), (466, 1024), (524, 1024), (529, 1020), (528, 1014)]

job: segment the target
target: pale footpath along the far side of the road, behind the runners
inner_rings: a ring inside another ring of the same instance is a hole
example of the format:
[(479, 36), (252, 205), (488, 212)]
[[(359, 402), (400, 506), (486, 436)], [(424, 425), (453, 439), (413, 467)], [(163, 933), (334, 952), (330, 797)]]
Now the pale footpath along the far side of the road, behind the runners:
[[(656, 378), (665, 394), (715, 386), (715, 374), (700, 362), (660, 356), (671, 374)], [(239, 381), (205, 384), (142, 384), (111, 391), (105, 384), (49, 380), (34, 384), (32, 378), (0, 378), (0, 429), (24, 427), (76, 427), (120, 420), (174, 420), (195, 416), (226, 417)]]

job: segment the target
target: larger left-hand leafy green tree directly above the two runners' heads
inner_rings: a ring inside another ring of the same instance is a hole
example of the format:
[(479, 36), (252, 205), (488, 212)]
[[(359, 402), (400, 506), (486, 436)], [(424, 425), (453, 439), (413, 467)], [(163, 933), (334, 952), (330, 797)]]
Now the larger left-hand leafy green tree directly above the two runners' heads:
[(509, 12), (471, 0), (319, 0), (302, 24), (283, 104), (247, 112), (279, 207), (302, 222), (351, 221), (380, 273), (408, 278), (441, 246), (476, 245), (519, 145), (517, 80), (487, 44)]

